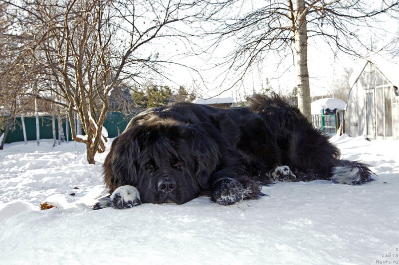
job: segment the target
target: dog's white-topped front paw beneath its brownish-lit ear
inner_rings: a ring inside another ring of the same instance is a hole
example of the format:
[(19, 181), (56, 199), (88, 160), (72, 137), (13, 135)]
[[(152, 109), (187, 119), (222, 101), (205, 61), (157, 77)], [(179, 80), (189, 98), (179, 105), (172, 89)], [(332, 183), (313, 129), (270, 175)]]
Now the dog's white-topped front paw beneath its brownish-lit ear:
[(140, 205), (140, 193), (136, 187), (125, 185), (120, 186), (111, 194), (109, 198), (111, 207), (116, 209), (132, 208)]

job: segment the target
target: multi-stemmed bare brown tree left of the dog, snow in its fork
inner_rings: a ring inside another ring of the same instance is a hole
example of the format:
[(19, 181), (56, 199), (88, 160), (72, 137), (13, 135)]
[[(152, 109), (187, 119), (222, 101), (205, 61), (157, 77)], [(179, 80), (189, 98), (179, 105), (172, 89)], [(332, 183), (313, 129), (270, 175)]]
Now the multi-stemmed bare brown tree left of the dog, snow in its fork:
[[(105, 150), (103, 124), (109, 96), (122, 80), (145, 84), (162, 75), (170, 61), (155, 52), (163, 39), (184, 37), (173, 27), (188, 19), (196, 3), (163, 0), (22, 0), (17, 10), (25, 40), (20, 58), (30, 58), (40, 73), (34, 94), (55, 102), (69, 115), (72, 138), (86, 143), (87, 160)], [(151, 46), (153, 45), (153, 46)], [(154, 46), (155, 45), (155, 46)], [(54, 85), (56, 89), (54, 89)], [(76, 135), (77, 112), (86, 135)]]

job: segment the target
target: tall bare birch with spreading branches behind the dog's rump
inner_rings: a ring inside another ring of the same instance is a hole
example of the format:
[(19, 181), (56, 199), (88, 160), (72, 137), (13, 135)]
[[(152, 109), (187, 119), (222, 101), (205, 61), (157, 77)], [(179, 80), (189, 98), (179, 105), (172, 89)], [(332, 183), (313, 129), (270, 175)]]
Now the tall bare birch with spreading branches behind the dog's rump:
[[(214, 38), (213, 48), (225, 39), (234, 39), (235, 49), (224, 58), (235, 72), (233, 85), (240, 82), (253, 65), (265, 60), (270, 52), (284, 57), (293, 55), (297, 70), (298, 107), (310, 118), (310, 88), (307, 66), (308, 38), (324, 40), (334, 52), (366, 56), (382, 38), (382, 16), (397, 17), (399, 1), (373, 4), (366, 0), (213, 0), (214, 6), (204, 20), (217, 28), (203, 27)], [(362, 30), (367, 29), (367, 31)], [(368, 34), (365, 38), (363, 34)], [(392, 42), (384, 42), (386, 48)], [(216, 49), (216, 48), (215, 48)], [(237, 74), (237, 71), (239, 74)], [(238, 77), (237, 77), (238, 76)]]

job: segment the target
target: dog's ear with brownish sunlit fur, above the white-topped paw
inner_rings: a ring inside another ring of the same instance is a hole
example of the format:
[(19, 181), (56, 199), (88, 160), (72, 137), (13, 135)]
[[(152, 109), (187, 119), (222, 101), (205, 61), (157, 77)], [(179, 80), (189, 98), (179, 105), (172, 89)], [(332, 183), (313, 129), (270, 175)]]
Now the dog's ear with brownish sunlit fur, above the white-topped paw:
[(140, 146), (136, 130), (116, 137), (104, 161), (104, 182), (111, 192), (122, 185), (134, 185), (137, 180), (136, 160)]

